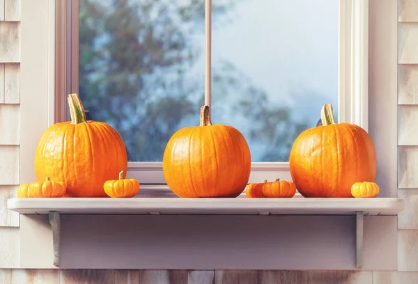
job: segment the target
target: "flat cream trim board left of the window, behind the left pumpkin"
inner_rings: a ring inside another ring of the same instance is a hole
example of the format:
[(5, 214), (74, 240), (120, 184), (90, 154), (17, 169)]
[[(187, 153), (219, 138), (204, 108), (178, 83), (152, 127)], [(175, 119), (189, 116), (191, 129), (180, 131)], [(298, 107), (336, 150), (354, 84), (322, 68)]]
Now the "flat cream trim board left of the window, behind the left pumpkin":
[(54, 2), (21, 3), (20, 183), (36, 180), (33, 171), (36, 144), (52, 123), (55, 80), (54, 15), (51, 14), (54, 14)]

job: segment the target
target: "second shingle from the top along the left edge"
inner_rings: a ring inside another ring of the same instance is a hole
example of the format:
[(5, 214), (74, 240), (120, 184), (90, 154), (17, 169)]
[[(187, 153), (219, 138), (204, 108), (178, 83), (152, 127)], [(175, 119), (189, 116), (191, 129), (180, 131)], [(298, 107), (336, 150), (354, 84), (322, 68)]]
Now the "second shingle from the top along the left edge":
[(0, 63), (20, 62), (20, 23), (0, 22)]

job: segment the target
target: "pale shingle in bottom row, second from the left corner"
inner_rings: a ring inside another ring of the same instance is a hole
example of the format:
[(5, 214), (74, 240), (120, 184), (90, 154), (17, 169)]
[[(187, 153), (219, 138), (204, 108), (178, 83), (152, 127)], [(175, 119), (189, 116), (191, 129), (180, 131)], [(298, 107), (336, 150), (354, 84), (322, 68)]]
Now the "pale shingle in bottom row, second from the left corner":
[(58, 284), (58, 269), (13, 269), (12, 284)]

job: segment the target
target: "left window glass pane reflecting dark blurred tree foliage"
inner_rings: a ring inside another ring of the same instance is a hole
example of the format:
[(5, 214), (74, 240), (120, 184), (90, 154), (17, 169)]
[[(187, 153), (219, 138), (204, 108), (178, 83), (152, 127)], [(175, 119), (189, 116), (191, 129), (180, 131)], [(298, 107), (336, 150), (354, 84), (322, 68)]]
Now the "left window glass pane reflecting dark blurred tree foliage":
[(162, 161), (171, 135), (199, 123), (203, 8), (203, 0), (80, 1), (79, 95), (88, 119), (118, 130), (129, 161)]

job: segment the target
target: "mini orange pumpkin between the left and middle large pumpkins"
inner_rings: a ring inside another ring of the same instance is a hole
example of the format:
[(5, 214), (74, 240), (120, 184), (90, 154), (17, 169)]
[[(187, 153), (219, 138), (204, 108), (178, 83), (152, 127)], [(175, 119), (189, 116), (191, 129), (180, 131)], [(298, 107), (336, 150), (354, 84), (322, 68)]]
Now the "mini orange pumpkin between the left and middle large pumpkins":
[(139, 182), (133, 178), (124, 179), (123, 171), (119, 173), (118, 180), (107, 180), (103, 185), (104, 192), (110, 197), (134, 197), (139, 191)]

